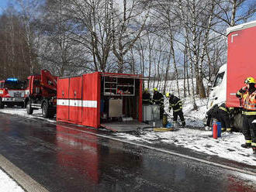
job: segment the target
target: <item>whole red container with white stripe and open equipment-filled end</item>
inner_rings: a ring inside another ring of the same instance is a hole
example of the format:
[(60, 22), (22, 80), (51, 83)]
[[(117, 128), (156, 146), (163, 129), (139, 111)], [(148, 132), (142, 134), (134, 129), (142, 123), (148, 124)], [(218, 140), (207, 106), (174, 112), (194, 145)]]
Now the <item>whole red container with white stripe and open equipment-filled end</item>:
[(142, 122), (140, 75), (95, 72), (57, 81), (57, 121), (112, 131), (148, 126)]

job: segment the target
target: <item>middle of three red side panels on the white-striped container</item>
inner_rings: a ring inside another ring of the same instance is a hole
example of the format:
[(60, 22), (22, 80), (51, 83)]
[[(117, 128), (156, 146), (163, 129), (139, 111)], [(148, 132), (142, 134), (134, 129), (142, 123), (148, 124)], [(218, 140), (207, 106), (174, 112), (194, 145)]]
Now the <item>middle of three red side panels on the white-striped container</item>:
[(71, 77), (69, 82), (69, 120), (81, 123), (81, 89), (82, 77)]

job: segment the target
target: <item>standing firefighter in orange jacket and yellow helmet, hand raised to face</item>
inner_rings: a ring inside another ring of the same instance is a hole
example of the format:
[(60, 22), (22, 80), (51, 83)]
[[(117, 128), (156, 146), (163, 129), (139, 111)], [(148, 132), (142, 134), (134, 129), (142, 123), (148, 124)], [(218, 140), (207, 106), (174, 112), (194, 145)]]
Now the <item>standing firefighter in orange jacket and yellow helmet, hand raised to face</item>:
[(253, 123), (256, 119), (256, 87), (253, 77), (247, 77), (244, 81), (247, 86), (242, 87), (237, 91), (237, 98), (242, 100), (244, 116), (243, 134), (245, 143), (241, 146), (244, 148), (252, 148), (254, 155), (256, 155), (256, 124)]

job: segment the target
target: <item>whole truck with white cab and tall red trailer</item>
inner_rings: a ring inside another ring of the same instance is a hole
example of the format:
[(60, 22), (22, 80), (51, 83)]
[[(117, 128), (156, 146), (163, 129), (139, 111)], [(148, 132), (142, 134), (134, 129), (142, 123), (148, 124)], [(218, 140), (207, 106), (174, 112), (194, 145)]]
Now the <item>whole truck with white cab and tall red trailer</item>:
[(256, 78), (256, 21), (247, 22), (227, 29), (227, 65), (220, 67), (212, 91), (208, 108), (226, 103), (234, 107), (231, 122), (234, 128), (242, 130), (243, 116), (236, 93), (244, 87), (247, 77)]

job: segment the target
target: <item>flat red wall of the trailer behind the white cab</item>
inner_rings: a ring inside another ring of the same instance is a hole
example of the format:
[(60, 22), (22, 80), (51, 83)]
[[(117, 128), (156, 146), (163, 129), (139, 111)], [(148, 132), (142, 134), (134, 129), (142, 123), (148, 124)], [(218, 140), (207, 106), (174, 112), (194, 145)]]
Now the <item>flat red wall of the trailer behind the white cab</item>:
[(256, 27), (234, 31), (228, 35), (227, 106), (240, 106), (237, 91), (247, 77), (256, 77)]

